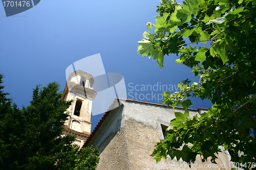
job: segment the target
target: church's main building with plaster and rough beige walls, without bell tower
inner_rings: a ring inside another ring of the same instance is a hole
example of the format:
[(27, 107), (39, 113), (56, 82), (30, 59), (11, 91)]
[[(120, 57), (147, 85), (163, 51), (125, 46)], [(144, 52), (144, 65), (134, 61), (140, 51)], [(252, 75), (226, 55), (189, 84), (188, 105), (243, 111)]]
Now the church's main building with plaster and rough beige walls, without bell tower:
[[(123, 102), (122, 102), (123, 101)], [(121, 102), (122, 105), (111, 110)], [(189, 117), (200, 116), (206, 109), (189, 109)], [(189, 169), (182, 160), (162, 159), (158, 164), (150, 155), (156, 143), (163, 139), (163, 128), (168, 127), (175, 112), (183, 108), (118, 99), (107, 111), (88, 138), (84, 147), (99, 148), (97, 169)], [(198, 156), (191, 169), (231, 169), (228, 152), (218, 155), (217, 163), (202, 162)], [(197, 165), (197, 166), (196, 166)]]

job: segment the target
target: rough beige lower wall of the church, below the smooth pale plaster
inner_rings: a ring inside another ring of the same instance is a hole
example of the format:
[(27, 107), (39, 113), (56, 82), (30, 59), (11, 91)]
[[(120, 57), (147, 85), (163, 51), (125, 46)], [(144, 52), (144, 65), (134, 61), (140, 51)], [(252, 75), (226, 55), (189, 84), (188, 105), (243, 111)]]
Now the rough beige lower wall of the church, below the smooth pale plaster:
[[(158, 164), (150, 155), (159, 141), (160, 133), (153, 127), (127, 120), (100, 155), (97, 170), (103, 169), (190, 169), (183, 161), (162, 159)], [(194, 168), (191, 169), (231, 169), (225, 153), (218, 155), (218, 164), (210, 160), (202, 162), (197, 157)], [(224, 165), (226, 168), (224, 168)], [(200, 168), (201, 167), (201, 168)]]

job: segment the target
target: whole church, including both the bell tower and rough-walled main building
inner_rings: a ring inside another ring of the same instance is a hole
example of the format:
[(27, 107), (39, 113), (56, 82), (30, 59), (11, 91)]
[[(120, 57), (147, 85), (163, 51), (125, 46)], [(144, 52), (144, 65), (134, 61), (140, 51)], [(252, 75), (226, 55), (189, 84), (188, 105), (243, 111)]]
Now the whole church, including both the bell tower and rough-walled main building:
[[(99, 148), (100, 161), (96, 169), (189, 169), (182, 160), (162, 159), (158, 164), (150, 155), (160, 139), (164, 139), (170, 120), (182, 107), (115, 99), (113, 104), (91, 132), (91, 108), (96, 91), (92, 75), (81, 70), (73, 72), (65, 88), (63, 100), (73, 100), (68, 111), (70, 119), (65, 123), (65, 134), (77, 136), (80, 147), (94, 145)], [(113, 109), (114, 108), (114, 109)], [(188, 109), (189, 117), (200, 116), (207, 109)], [(219, 153), (216, 162), (202, 162), (197, 157), (191, 169), (231, 169), (227, 151)], [(196, 166), (197, 165), (197, 166)]]

